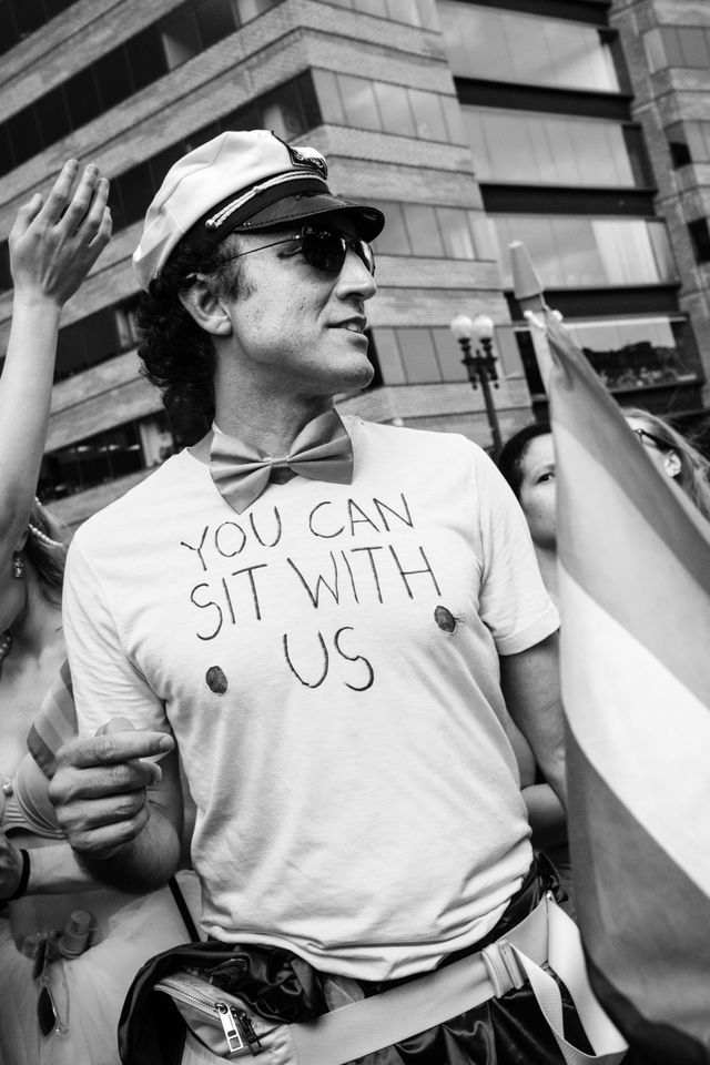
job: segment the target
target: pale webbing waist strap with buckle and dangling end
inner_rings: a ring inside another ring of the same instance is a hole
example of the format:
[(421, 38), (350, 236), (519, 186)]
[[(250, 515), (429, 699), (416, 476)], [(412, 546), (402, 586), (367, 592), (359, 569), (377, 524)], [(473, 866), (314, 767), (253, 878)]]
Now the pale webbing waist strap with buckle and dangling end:
[[(595, 1048), (592, 1055), (564, 1037), (559, 988), (541, 970), (548, 961), (572, 996)], [(523, 986), (526, 978), (568, 1065), (617, 1065), (621, 1061), (627, 1045), (589, 986), (579, 932), (551, 895), (546, 895), (520, 924), (478, 954), (316, 1021), (290, 1025), (298, 1065), (345, 1065), (500, 997)]]

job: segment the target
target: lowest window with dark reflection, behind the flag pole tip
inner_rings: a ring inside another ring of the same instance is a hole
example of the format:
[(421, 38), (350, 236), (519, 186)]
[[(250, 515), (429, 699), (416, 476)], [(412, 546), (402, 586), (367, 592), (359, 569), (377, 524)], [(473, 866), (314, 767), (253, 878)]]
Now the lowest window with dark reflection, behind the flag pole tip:
[[(698, 379), (686, 351), (688, 326), (683, 318), (566, 320), (565, 325), (611, 392), (691, 384)], [(516, 326), (515, 336), (530, 393), (544, 396), (529, 331)]]

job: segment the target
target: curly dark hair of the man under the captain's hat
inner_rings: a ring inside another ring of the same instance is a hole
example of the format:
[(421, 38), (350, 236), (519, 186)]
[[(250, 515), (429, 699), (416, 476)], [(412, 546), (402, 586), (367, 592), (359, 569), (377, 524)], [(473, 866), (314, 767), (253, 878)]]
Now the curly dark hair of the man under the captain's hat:
[(242, 295), (242, 263), (230, 261), (239, 246), (239, 236), (230, 234), (205, 255), (200, 241), (187, 233), (160, 276), (141, 294), (136, 310), (141, 373), (161, 389), (169, 414), (186, 416), (205, 428), (214, 418), (214, 347), (210, 334), (185, 311), (180, 294), (200, 273), (210, 276), (217, 296)]

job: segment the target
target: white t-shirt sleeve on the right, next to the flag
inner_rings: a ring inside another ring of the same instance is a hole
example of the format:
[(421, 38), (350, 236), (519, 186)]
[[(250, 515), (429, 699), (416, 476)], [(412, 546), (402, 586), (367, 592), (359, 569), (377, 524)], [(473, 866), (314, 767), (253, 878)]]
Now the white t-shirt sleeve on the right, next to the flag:
[(520, 505), (485, 452), (476, 456), (481, 549), (479, 613), (499, 655), (516, 655), (559, 628)]

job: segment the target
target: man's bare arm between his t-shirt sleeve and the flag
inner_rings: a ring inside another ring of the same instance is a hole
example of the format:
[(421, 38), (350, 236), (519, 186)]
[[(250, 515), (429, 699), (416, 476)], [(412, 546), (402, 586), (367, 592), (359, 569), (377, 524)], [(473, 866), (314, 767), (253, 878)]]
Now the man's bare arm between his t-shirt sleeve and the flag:
[(565, 719), (559, 692), (558, 633), (500, 656), (500, 687), (510, 717), (532, 748), (545, 779), (567, 807)]

